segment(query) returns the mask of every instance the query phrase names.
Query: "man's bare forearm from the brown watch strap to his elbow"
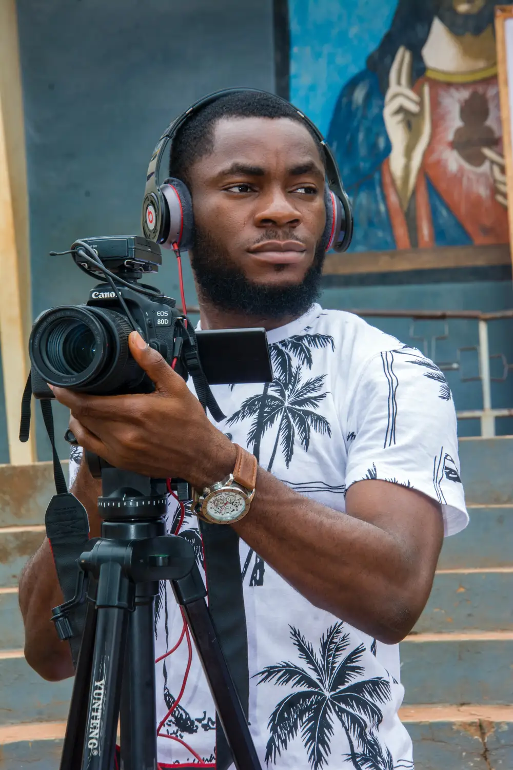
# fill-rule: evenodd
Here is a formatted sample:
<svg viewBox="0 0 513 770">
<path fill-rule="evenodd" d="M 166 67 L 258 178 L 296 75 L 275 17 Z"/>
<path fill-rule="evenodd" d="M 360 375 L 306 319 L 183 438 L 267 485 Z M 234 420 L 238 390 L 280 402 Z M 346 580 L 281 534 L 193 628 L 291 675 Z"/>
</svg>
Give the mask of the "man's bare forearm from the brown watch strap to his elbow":
<svg viewBox="0 0 513 770">
<path fill-rule="evenodd" d="M 233 526 L 312 604 L 386 643 L 405 636 L 428 598 L 431 560 L 412 563 L 385 527 L 325 507 L 260 468 L 251 511 Z"/>
</svg>

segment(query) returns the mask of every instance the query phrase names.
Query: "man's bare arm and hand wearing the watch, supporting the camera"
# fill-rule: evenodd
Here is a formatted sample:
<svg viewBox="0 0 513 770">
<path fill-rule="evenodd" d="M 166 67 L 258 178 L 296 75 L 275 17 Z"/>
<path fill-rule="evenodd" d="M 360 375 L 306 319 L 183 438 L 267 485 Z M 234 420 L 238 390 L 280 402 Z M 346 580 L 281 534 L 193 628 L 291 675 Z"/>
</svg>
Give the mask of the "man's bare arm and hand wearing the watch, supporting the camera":
<svg viewBox="0 0 513 770">
<path fill-rule="evenodd" d="M 185 478 L 196 489 L 224 478 L 235 466 L 234 445 L 160 353 L 138 347 L 134 335 L 132 355 L 155 383 L 153 393 L 86 396 L 55 388 L 72 410 L 78 443 L 115 467 Z M 259 468 L 252 508 L 235 528 L 312 604 L 396 642 L 411 630 L 431 590 L 441 507 L 421 492 L 379 480 L 351 484 L 346 507 L 347 514 L 333 511 Z"/>
</svg>

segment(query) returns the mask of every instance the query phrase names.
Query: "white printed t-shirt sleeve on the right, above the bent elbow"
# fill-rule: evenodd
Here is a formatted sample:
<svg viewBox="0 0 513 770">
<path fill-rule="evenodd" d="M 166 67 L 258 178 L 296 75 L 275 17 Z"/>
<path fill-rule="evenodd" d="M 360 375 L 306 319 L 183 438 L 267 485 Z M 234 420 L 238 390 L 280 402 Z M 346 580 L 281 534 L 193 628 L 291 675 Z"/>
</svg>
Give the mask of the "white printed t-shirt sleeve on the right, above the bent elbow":
<svg viewBox="0 0 513 770">
<path fill-rule="evenodd" d="M 381 479 L 441 504 L 445 535 L 468 524 L 455 407 L 444 374 L 415 348 L 365 364 L 348 406 L 346 487 Z"/>
</svg>

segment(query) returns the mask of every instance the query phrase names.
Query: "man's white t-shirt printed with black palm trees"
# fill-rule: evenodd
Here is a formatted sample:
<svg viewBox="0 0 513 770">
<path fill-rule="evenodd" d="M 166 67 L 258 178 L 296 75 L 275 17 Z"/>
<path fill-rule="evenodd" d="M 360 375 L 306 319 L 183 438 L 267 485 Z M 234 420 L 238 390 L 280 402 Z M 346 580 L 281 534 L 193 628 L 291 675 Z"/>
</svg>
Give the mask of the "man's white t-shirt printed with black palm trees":
<svg viewBox="0 0 513 770">
<path fill-rule="evenodd" d="M 227 416 L 220 430 L 284 484 L 341 515 L 351 484 L 381 479 L 438 500 L 446 535 L 466 526 L 455 407 L 435 364 L 358 316 L 318 305 L 269 332 L 268 342 L 273 383 L 212 388 Z M 78 456 L 74 450 L 72 477 Z M 169 531 L 177 521 L 172 500 Z M 204 574 L 194 516 L 181 532 Z M 314 607 L 242 541 L 241 564 L 249 722 L 262 767 L 412 768 L 411 739 L 398 718 L 398 645 Z M 182 628 L 163 584 L 157 657 L 175 647 Z M 178 697 L 187 665 L 187 638 L 156 665 L 158 722 Z M 194 645 L 182 698 L 161 733 L 169 736 L 158 738 L 162 767 L 215 768 L 215 708 Z"/>
</svg>

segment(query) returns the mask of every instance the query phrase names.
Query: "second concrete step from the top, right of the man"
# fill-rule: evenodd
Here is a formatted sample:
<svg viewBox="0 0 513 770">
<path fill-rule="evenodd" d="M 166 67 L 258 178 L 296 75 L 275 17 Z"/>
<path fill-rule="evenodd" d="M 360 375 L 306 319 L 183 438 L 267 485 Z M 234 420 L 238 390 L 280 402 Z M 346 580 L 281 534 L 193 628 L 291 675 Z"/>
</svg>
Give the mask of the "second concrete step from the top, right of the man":
<svg viewBox="0 0 513 770">
<path fill-rule="evenodd" d="M 471 506 L 468 514 L 468 527 L 445 538 L 438 569 L 513 567 L 513 505 Z"/>
</svg>

